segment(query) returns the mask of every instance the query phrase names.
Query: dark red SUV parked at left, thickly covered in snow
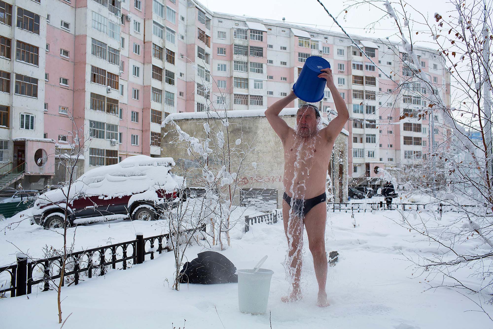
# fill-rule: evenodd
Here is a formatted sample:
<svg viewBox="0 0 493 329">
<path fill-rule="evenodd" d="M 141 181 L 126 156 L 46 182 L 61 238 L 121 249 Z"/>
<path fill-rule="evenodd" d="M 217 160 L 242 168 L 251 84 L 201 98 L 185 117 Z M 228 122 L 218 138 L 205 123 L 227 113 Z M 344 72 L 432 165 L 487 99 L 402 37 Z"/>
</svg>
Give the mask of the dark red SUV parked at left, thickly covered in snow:
<svg viewBox="0 0 493 329">
<path fill-rule="evenodd" d="M 177 205 L 178 193 L 184 187 L 183 177 L 170 172 L 174 165 L 170 157 L 135 155 L 89 170 L 70 186 L 41 194 L 34 204 L 31 224 L 63 227 L 67 194 L 70 225 L 157 219 L 163 210 Z"/>
</svg>

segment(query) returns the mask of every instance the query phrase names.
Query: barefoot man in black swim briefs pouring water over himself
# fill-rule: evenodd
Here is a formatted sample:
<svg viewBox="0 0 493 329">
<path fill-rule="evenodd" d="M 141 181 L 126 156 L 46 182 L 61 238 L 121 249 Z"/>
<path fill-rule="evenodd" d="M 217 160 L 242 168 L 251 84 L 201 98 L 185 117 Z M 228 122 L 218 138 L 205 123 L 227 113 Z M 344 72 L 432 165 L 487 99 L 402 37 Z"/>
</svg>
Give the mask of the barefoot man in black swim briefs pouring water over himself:
<svg viewBox="0 0 493 329">
<path fill-rule="evenodd" d="M 327 256 L 325 254 L 325 220 L 327 217 L 325 182 L 329 159 L 336 137 L 349 119 L 349 112 L 337 91 L 332 70 L 323 69 L 319 78 L 327 80 L 327 87 L 334 98 L 337 116 L 328 126 L 317 130 L 320 113 L 313 105 L 298 109 L 296 130 L 289 127 L 279 113 L 296 99 L 291 93 L 265 111 L 272 128 L 281 138 L 284 148 L 284 196 L 282 218 L 288 241 L 288 269 L 293 279 L 292 292 L 282 297 L 291 302 L 300 299 L 302 267 L 303 226 L 308 234 L 308 244 L 313 256 L 315 276 L 318 282 L 317 305 L 328 306 L 325 283 L 327 280 Z"/>
</svg>

